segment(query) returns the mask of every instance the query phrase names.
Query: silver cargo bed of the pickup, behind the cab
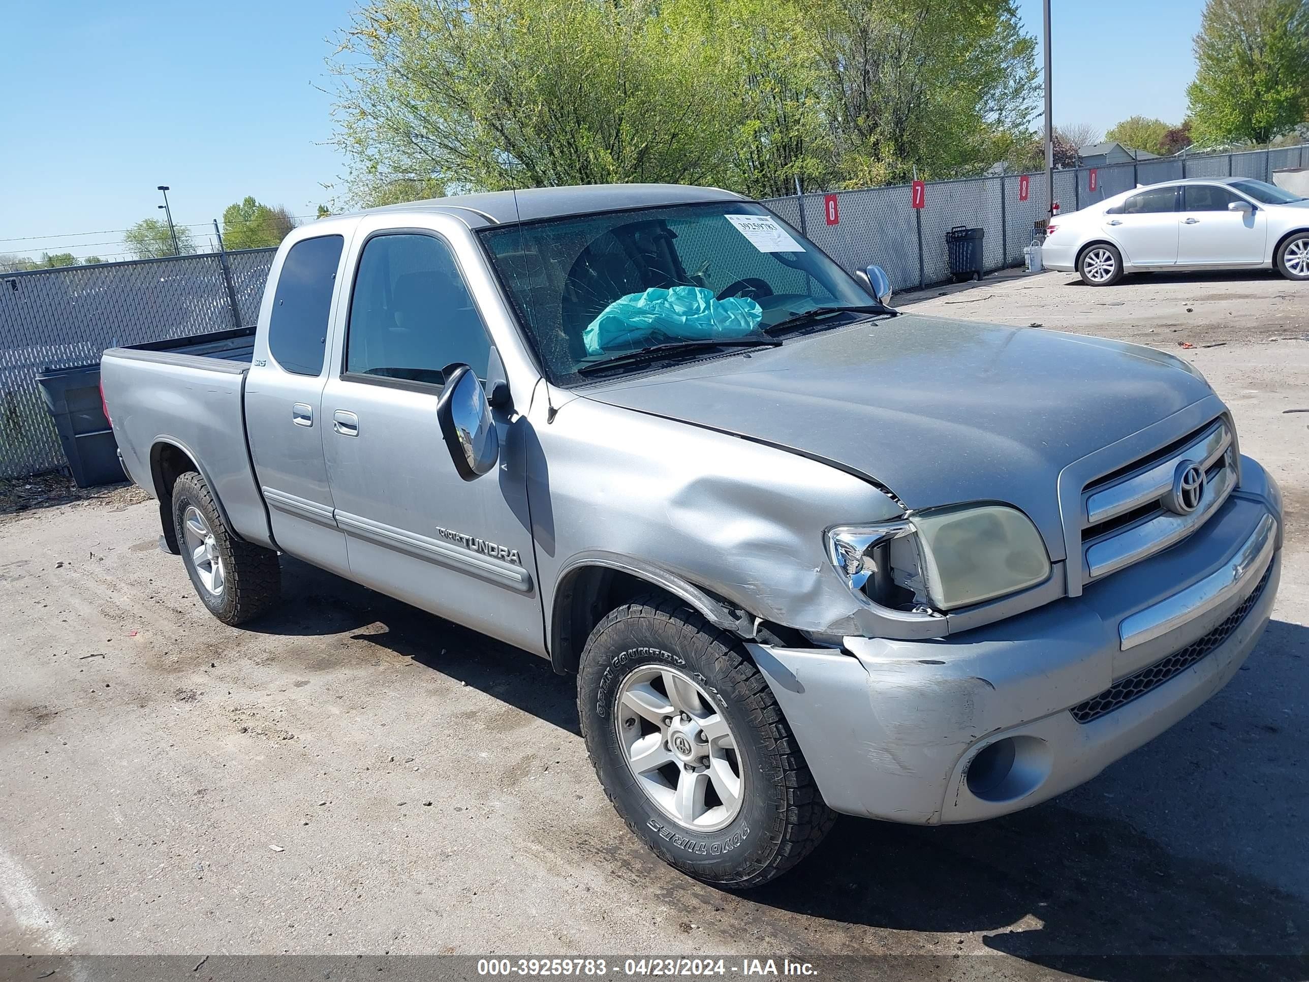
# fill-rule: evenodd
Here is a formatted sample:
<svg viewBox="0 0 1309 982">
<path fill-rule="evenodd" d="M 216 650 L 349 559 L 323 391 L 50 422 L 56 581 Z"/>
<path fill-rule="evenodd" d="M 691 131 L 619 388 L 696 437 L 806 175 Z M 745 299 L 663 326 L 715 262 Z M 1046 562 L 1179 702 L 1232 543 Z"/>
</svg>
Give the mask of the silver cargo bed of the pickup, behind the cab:
<svg viewBox="0 0 1309 982">
<path fill-rule="evenodd" d="M 254 327 L 217 331 L 110 348 L 101 356 L 99 378 L 132 481 L 157 495 L 160 461 L 181 450 L 213 488 L 228 528 L 267 546 L 268 513 L 246 443 L 253 356 Z"/>
</svg>

